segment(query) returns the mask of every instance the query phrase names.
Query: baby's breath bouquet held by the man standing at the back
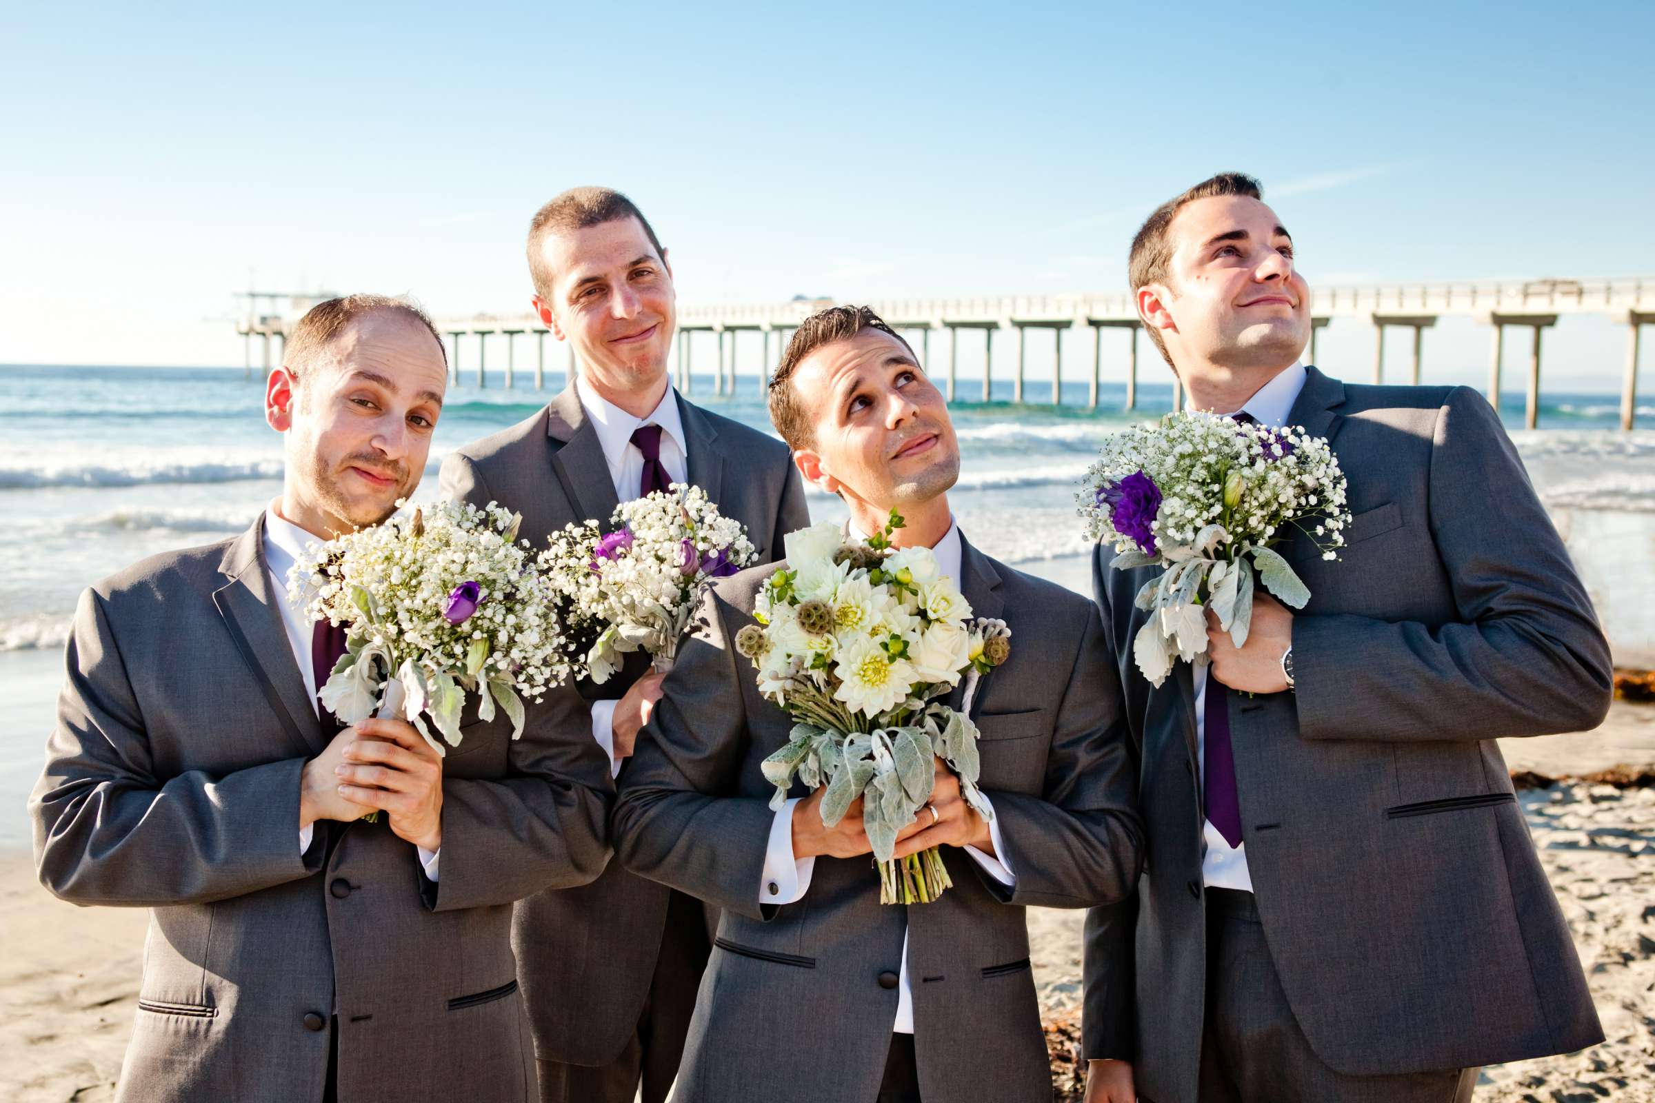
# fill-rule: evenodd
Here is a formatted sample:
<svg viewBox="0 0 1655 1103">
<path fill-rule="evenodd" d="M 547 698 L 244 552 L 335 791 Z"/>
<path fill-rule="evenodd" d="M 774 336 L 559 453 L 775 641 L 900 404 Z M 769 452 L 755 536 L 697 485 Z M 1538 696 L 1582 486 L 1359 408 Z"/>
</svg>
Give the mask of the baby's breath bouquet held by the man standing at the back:
<svg viewBox="0 0 1655 1103">
<path fill-rule="evenodd" d="M 609 528 L 569 524 L 544 552 L 569 661 L 596 683 L 639 648 L 655 670 L 670 670 L 702 584 L 758 557 L 741 523 L 687 483 L 621 503 Z"/>
</svg>

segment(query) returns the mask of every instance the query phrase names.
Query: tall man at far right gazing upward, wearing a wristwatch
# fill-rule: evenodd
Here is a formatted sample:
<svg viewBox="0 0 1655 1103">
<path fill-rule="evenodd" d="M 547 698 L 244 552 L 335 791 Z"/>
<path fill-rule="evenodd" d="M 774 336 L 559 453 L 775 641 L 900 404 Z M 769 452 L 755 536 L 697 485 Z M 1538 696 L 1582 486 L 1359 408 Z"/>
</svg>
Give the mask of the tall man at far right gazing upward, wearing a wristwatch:
<svg viewBox="0 0 1655 1103">
<path fill-rule="evenodd" d="M 1354 523 L 1337 562 L 1281 546 L 1302 610 L 1259 592 L 1246 647 L 1210 627 L 1160 690 L 1132 661 L 1158 569 L 1097 551 L 1149 863 L 1087 916 L 1087 1055 L 1154 1103 L 1446 1103 L 1600 1042 L 1494 739 L 1595 726 L 1609 648 L 1498 415 L 1302 365 L 1311 293 L 1250 177 L 1160 207 L 1130 273 L 1192 405 L 1331 440 Z"/>
</svg>

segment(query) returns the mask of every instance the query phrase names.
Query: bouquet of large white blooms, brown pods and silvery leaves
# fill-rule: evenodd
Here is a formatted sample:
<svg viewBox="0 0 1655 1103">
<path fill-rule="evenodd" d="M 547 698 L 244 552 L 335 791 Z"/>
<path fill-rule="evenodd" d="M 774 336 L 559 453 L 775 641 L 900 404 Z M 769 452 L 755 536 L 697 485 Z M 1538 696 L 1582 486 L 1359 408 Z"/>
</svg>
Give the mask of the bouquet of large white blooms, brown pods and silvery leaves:
<svg viewBox="0 0 1655 1103">
<path fill-rule="evenodd" d="M 736 652 L 758 668 L 760 693 L 798 721 L 763 762 L 781 809 L 798 777 L 828 787 L 823 824 L 832 827 L 862 797 L 862 824 L 879 867 L 879 901 L 930 903 L 953 885 L 935 847 L 892 860 L 897 832 L 930 800 L 933 756 L 960 777 L 985 819 L 976 789 L 976 726 L 968 719 L 981 675 L 1011 653 L 1003 620 L 971 607 L 928 547 L 890 547 L 902 518 L 866 542 L 844 542 L 836 524 L 786 537 L 788 566 L 765 582 L 756 625 Z M 960 709 L 933 698 L 967 680 Z"/>
</svg>

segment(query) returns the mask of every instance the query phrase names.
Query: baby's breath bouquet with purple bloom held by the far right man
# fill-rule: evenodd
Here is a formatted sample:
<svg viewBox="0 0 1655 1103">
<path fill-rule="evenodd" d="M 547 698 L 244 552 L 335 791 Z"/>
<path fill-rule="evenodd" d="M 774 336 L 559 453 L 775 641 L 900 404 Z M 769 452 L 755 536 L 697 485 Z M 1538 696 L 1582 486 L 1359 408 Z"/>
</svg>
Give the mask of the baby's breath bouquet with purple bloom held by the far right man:
<svg viewBox="0 0 1655 1103">
<path fill-rule="evenodd" d="M 1079 503 L 1087 539 L 1120 552 L 1115 569 L 1165 567 L 1137 594 L 1150 618 L 1132 642 L 1155 686 L 1173 661 L 1206 660 L 1206 609 L 1236 647 L 1246 643 L 1254 574 L 1302 609 L 1311 592 L 1273 546 L 1298 529 L 1322 559 L 1337 559 L 1350 524 L 1326 440 L 1190 410 L 1106 440 Z"/>
</svg>

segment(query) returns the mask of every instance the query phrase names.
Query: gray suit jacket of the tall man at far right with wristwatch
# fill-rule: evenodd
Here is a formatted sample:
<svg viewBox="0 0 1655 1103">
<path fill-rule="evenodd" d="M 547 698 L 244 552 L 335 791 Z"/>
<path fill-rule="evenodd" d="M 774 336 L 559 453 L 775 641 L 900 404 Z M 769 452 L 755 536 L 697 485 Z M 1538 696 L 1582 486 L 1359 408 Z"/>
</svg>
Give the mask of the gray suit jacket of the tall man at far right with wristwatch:
<svg viewBox="0 0 1655 1103">
<path fill-rule="evenodd" d="M 1283 554 L 1311 589 L 1298 693 L 1230 695 L 1248 870 L 1289 1005 L 1352 1075 L 1463 1068 L 1602 1040 L 1581 962 L 1494 739 L 1582 731 L 1609 648 L 1488 402 L 1359 387 L 1314 367 L 1291 423 L 1327 437 L 1354 524 L 1339 562 Z M 1132 661 L 1157 567 L 1094 561 L 1142 744 L 1149 862 L 1132 905 L 1087 916 L 1089 1057 L 1137 1053 L 1155 1103 L 1195 1100 L 1205 986 L 1192 671 Z M 1114 931 L 1137 910 L 1132 962 Z"/>
</svg>

